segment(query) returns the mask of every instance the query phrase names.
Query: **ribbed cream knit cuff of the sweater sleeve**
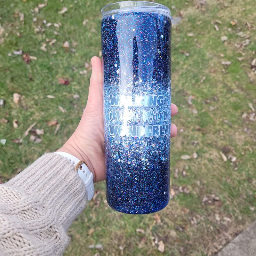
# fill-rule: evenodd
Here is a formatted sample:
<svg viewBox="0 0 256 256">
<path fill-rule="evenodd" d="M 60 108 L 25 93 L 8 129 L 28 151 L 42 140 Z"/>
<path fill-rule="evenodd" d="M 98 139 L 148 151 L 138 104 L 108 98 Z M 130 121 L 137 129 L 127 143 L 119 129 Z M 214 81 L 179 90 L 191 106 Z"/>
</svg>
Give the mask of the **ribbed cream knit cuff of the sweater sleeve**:
<svg viewBox="0 0 256 256">
<path fill-rule="evenodd" d="M 55 221 L 65 230 L 87 202 L 85 185 L 73 165 L 55 153 L 44 154 L 6 185 L 37 197 L 44 208 L 53 211 Z"/>
</svg>

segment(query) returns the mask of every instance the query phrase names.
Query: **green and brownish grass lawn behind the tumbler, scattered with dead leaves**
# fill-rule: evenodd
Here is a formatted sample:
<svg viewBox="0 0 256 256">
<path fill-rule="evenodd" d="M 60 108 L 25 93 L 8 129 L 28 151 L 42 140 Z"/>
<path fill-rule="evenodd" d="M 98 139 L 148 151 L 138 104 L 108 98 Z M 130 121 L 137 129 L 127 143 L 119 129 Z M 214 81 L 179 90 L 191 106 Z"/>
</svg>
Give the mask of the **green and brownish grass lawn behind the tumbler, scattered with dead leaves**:
<svg viewBox="0 0 256 256">
<path fill-rule="evenodd" d="M 90 68 L 86 68 L 86 74 L 79 71 L 92 56 L 99 55 L 100 9 L 110 2 L 48 1 L 38 14 L 31 9 L 41 1 L 1 2 L 0 98 L 5 106 L 0 109 L 0 139 L 6 139 L 5 145 L 0 144 L 2 181 L 44 152 L 58 149 L 74 131 L 86 104 L 90 77 Z M 159 222 L 155 214 L 132 216 L 110 209 L 105 183 L 96 184 L 99 194 L 72 224 L 72 239 L 65 255 L 210 256 L 256 217 L 256 127 L 249 119 L 253 111 L 248 105 L 256 108 L 256 77 L 250 66 L 256 57 L 254 1 L 159 3 L 171 8 L 173 16 L 183 16 L 172 31 L 172 100 L 179 107 L 177 117 L 172 119 L 179 129 L 171 147 L 174 198 L 158 213 Z M 68 10 L 59 14 L 63 7 Z M 20 21 L 20 13 L 24 21 Z M 33 17 L 37 21 L 33 22 Z M 85 19 L 88 21 L 84 26 Z M 234 19 L 237 24 L 231 25 Z M 61 25 L 47 27 L 43 20 Z M 38 26 L 44 31 L 35 32 Z M 222 36 L 227 36 L 227 41 L 223 42 Z M 49 45 L 47 39 L 56 42 Z M 239 47 L 246 39 L 249 44 Z M 62 47 L 65 41 L 70 43 L 69 50 Z M 40 49 L 42 43 L 46 43 L 47 51 Z M 22 56 L 13 54 L 21 49 L 37 60 L 26 64 Z M 232 63 L 225 68 L 223 61 Z M 70 84 L 60 85 L 59 78 L 69 79 Z M 13 102 L 14 93 L 22 95 L 18 106 Z M 77 103 L 74 94 L 80 95 L 82 104 Z M 58 106 L 67 112 L 62 113 Z M 247 114 L 244 118 L 243 113 Z M 14 119 L 18 120 L 16 129 Z M 51 120 L 60 124 L 56 135 L 56 126 L 47 125 Z M 24 136 L 34 122 L 35 128 L 44 129 L 39 144 L 30 141 L 30 135 Z M 17 138 L 23 139 L 21 144 L 13 142 Z M 220 151 L 236 160 L 224 162 Z M 181 159 L 194 152 L 197 158 Z M 184 188 L 188 193 L 183 192 Z M 203 198 L 212 194 L 219 200 L 203 203 Z M 145 232 L 136 232 L 138 228 Z M 165 243 L 164 253 L 158 251 L 158 241 Z M 103 245 L 102 251 L 88 248 L 98 243 Z"/>
</svg>

